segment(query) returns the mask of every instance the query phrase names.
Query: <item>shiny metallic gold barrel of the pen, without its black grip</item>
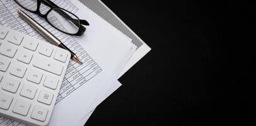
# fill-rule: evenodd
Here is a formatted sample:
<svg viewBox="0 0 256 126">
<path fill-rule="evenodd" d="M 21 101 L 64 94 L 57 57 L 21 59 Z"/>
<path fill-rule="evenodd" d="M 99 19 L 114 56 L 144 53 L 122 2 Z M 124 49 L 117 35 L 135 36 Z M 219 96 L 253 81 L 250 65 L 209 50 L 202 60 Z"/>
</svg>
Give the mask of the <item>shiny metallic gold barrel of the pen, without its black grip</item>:
<svg viewBox="0 0 256 126">
<path fill-rule="evenodd" d="M 28 16 L 26 13 L 24 13 L 21 10 L 18 10 L 18 14 L 25 20 L 27 23 L 29 23 L 35 30 L 37 30 L 41 35 L 43 35 L 47 40 L 50 41 L 50 43 L 59 46 L 61 44 L 61 40 L 56 38 L 50 31 L 46 30 L 42 25 L 37 23 L 37 21 L 33 20 Z"/>
</svg>

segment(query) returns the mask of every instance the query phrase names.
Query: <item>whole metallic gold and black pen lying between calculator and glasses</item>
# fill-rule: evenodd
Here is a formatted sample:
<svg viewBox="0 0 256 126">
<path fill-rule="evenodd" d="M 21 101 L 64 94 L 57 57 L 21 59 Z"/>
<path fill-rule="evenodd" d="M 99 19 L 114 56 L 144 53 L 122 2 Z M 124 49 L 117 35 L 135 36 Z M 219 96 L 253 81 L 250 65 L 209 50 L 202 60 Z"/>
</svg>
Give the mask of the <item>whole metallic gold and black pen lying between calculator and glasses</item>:
<svg viewBox="0 0 256 126">
<path fill-rule="evenodd" d="M 52 35 L 50 31 L 46 30 L 42 25 L 38 24 L 37 21 L 33 20 L 28 14 L 24 13 L 20 9 L 18 10 L 18 14 L 25 20 L 28 24 L 30 24 L 35 30 L 37 30 L 41 35 L 43 35 L 47 40 L 49 40 L 54 45 L 57 45 L 58 47 L 61 47 L 62 49 L 66 49 L 71 53 L 71 59 L 75 60 L 76 62 L 79 62 L 82 64 L 81 60 L 78 58 L 74 52 L 72 52 L 70 49 L 64 45 L 61 40 L 59 40 L 57 37 Z"/>
</svg>

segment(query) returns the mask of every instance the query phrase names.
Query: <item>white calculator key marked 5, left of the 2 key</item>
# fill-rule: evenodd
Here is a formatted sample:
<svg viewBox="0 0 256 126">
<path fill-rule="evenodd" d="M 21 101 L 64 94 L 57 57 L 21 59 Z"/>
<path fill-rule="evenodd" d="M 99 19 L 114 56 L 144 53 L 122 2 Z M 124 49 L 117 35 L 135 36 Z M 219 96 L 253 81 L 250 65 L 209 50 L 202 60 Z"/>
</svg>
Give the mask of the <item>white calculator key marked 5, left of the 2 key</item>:
<svg viewBox="0 0 256 126">
<path fill-rule="evenodd" d="M 9 91 L 11 93 L 16 93 L 20 86 L 20 81 L 10 77 L 4 77 L 2 89 Z"/>
</svg>

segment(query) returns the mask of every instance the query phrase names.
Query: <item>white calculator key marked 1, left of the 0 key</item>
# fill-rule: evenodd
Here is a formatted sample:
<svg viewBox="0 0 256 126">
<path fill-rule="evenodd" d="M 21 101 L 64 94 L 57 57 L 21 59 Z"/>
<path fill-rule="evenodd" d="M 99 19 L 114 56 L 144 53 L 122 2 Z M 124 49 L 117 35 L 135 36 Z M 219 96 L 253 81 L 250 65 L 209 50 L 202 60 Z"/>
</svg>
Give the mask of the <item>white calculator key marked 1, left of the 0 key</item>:
<svg viewBox="0 0 256 126">
<path fill-rule="evenodd" d="M 17 100 L 15 106 L 13 107 L 13 112 L 26 116 L 28 115 L 28 110 L 30 110 L 30 103 L 24 100 Z"/>
</svg>

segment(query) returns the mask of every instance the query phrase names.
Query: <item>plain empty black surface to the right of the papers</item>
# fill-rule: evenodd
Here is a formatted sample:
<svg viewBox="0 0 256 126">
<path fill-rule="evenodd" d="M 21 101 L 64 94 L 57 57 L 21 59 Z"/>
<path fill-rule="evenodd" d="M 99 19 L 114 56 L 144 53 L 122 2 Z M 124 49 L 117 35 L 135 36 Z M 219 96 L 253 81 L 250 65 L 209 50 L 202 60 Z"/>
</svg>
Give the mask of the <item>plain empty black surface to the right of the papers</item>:
<svg viewBox="0 0 256 126">
<path fill-rule="evenodd" d="M 255 125 L 255 1 L 102 1 L 152 50 L 86 125 Z"/>
</svg>

